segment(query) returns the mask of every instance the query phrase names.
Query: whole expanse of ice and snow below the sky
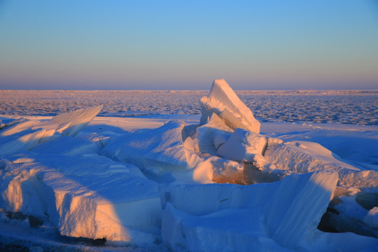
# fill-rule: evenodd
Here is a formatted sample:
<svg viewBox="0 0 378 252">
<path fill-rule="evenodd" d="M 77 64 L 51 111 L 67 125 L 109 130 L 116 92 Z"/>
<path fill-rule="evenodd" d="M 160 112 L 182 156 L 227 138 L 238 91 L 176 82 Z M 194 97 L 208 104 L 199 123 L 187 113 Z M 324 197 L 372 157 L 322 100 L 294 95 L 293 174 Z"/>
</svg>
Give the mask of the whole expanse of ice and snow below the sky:
<svg viewBox="0 0 378 252">
<path fill-rule="evenodd" d="M 377 91 L 0 101 L 3 250 L 378 251 Z"/>
</svg>

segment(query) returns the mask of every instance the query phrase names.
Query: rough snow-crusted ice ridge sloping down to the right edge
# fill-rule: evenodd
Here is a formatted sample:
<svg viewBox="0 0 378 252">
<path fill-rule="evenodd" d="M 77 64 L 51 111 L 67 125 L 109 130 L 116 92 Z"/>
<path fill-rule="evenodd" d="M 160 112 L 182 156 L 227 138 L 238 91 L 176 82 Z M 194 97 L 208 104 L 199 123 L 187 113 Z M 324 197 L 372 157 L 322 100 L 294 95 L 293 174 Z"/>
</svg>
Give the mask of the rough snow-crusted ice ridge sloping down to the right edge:
<svg viewBox="0 0 378 252">
<path fill-rule="evenodd" d="M 314 171 L 337 172 L 337 186 L 342 188 L 378 188 L 378 172 L 361 171 L 340 161 L 334 153 L 320 144 L 309 141 L 290 141 L 282 144 L 268 144 L 265 158 L 277 169 L 290 173 L 307 173 Z"/>
</svg>

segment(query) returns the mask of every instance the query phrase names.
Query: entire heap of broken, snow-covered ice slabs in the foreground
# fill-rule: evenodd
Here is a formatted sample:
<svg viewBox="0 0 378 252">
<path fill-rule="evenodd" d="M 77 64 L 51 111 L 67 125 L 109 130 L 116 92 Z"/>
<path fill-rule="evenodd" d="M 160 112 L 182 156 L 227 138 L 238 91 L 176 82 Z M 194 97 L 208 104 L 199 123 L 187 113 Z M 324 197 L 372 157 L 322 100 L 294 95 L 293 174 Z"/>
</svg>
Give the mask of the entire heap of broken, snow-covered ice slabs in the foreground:
<svg viewBox="0 0 378 252">
<path fill-rule="evenodd" d="M 101 107 L 14 121 L 0 131 L 0 208 L 62 235 L 177 251 L 378 246 L 378 172 L 316 143 L 260 134 L 225 80 L 200 105 L 198 125 L 112 137 L 78 134 Z"/>
</svg>

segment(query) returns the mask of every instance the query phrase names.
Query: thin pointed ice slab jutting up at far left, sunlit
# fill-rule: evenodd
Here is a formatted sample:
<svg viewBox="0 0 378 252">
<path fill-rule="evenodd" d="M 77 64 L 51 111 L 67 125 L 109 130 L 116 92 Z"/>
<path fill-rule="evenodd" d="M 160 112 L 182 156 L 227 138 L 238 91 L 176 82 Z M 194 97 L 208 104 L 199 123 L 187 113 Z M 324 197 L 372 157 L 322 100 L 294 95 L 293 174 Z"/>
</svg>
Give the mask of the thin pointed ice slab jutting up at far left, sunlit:
<svg viewBox="0 0 378 252">
<path fill-rule="evenodd" d="M 92 109 L 78 109 L 76 111 L 62 113 L 51 119 L 52 123 L 59 124 L 58 132 L 63 136 L 75 137 L 90 121 L 97 116 L 103 105 Z"/>
</svg>

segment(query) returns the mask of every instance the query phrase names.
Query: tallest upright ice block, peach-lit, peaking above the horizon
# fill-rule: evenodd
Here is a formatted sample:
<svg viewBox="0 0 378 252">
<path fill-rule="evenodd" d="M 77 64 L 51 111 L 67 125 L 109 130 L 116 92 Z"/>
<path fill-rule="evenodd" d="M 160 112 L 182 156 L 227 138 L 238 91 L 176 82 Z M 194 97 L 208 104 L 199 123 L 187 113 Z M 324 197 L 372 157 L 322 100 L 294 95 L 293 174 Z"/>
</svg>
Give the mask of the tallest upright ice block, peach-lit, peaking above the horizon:
<svg viewBox="0 0 378 252">
<path fill-rule="evenodd" d="M 260 133 L 260 123 L 251 109 L 241 102 L 225 80 L 214 80 L 207 97 L 200 100 L 202 108 L 201 124 L 207 123 L 212 113 L 216 113 L 225 124 L 235 130 L 237 127 Z"/>
</svg>

